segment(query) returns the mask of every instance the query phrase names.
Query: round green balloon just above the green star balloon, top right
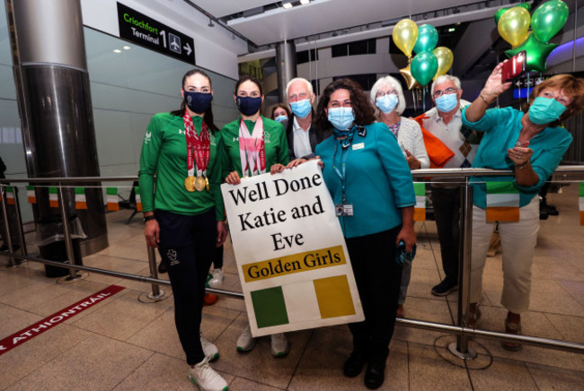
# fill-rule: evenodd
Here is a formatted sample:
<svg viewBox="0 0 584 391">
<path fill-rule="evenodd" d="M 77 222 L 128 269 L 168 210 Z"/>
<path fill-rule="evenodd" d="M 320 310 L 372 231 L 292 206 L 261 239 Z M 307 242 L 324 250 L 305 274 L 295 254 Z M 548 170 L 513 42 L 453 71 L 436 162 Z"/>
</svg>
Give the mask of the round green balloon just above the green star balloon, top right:
<svg viewBox="0 0 584 391">
<path fill-rule="evenodd" d="M 562 0 L 550 0 L 538 6 L 531 17 L 531 30 L 535 38 L 547 43 L 562 30 L 569 13 L 568 5 Z"/>
</svg>

